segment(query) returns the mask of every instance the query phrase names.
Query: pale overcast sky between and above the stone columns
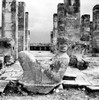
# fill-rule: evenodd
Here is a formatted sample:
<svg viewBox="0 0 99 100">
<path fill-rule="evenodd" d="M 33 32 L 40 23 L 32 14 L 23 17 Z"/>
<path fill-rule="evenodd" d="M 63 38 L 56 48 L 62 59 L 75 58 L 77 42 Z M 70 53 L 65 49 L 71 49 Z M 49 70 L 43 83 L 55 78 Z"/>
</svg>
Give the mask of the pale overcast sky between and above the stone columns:
<svg viewBox="0 0 99 100">
<path fill-rule="evenodd" d="M 0 0 L 0 4 L 2 4 L 1 1 L 2 0 Z M 57 4 L 63 3 L 63 0 L 21 1 L 26 2 L 26 11 L 29 12 L 29 29 L 31 31 L 31 42 L 50 42 L 50 31 L 53 28 L 53 13 L 57 12 Z M 92 8 L 96 4 L 99 4 L 99 0 L 81 0 L 81 15 L 90 14 L 92 19 Z"/>
</svg>

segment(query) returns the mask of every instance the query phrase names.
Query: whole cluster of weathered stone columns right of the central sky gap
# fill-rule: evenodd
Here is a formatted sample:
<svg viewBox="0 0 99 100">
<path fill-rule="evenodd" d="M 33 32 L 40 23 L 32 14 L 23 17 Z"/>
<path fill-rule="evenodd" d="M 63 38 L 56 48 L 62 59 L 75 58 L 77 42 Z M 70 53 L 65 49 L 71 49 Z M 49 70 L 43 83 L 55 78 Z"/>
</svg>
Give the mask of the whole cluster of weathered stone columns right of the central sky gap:
<svg viewBox="0 0 99 100">
<path fill-rule="evenodd" d="M 66 45 L 67 40 L 85 41 L 90 43 L 94 52 L 99 52 L 99 5 L 93 7 L 93 20 L 90 15 L 80 17 L 80 0 L 64 0 L 59 3 L 57 13 L 54 14 L 53 32 L 51 34 L 53 52 L 59 48 L 59 44 Z M 56 28 L 55 28 L 56 27 Z M 56 40 L 55 42 L 53 42 Z"/>
</svg>

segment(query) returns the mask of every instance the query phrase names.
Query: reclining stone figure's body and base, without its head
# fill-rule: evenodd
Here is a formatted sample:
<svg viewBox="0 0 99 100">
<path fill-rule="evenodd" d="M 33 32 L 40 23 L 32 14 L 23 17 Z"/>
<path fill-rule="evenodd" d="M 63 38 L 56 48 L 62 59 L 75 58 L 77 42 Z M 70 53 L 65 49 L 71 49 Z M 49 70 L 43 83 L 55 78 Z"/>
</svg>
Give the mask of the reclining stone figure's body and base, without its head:
<svg viewBox="0 0 99 100">
<path fill-rule="evenodd" d="M 23 76 L 19 83 L 28 90 L 35 93 L 49 93 L 55 86 L 62 81 L 64 73 L 69 63 L 69 56 L 65 51 L 58 52 L 52 58 L 52 64 L 48 68 L 42 69 L 41 64 L 35 57 L 27 52 L 19 53 L 19 62 L 23 68 Z"/>
</svg>

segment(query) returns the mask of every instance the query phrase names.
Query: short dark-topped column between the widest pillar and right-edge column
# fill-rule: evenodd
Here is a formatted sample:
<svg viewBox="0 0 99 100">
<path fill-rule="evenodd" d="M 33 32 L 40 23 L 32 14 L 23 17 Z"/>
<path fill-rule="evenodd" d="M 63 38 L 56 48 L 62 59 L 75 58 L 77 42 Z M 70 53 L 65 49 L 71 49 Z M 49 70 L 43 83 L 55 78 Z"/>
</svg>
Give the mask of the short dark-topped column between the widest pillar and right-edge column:
<svg viewBox="0 0 99 100">
<path fill-rule="evenodd" d="M 85 14 L 81 17 L 81 40 L 90 40 L 90 15 Z"/>
</svg>

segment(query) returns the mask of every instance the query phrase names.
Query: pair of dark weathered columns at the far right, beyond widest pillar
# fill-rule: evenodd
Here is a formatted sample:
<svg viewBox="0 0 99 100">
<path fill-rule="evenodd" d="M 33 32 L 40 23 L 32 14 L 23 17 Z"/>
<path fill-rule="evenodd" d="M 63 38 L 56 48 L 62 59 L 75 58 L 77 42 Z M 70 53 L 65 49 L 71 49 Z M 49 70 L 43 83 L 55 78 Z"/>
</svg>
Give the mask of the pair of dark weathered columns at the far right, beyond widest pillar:
<svg viewBox="0 0 99 100">
<path fill-rule="evenodd" d="M 99 5 L 93 7 L 93 19 L 85 14 L 81 17 L 81 40 L 90 43 L 92 53 L 99 53 Z"/>
</svg>

